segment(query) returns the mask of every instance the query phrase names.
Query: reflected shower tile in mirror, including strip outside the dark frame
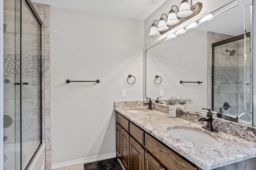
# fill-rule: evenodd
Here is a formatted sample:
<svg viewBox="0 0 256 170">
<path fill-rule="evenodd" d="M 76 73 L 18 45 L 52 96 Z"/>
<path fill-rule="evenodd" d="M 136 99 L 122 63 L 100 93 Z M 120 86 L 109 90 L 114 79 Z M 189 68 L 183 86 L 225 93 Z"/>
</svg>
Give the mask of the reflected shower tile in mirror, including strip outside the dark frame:
<svg viewBox="0 0 256 170">
<path fill-rule="evenodd" d="M 233 36 L 219 33 L 208 33 L 208 108 L 211 108 L 212 98 L 212 43 L 231 38 Z M 250 39 L 247 40 L 250 44 Z M 250 47 L 248 47 L 250 51 Z M 233 56 L 226 49 L 236 50 Z M 230 115 L 240 115 L 244 112 L 244 39 L 214 47 L 214 111 L 227 102 L 231 107 L 222 109 Z M 250 72 L 250 62 L 247 71 Z M 251 74 L 247 79 L 250 80 Z M 248 86 L 250 94 L 250 86 Z M 250 105 L 250 95 L 247 95 Z M 250 108 L 248 108 L 250 109 Z"/>
</svg>

